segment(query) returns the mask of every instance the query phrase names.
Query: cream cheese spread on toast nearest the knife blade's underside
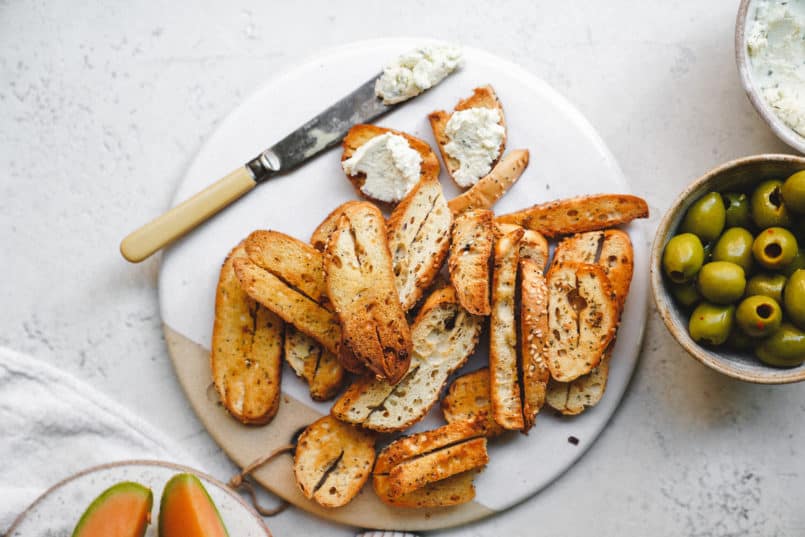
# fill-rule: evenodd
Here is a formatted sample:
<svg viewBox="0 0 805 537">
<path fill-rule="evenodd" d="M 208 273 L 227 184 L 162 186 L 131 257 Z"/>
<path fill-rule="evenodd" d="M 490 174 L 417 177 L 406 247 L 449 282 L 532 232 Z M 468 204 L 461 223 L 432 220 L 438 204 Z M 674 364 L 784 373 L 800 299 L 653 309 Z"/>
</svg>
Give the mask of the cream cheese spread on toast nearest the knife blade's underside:
<svg viewBox="0 0 805 537">
<path fill-rule="evenodd" d="M 387 132 L 356 149 L 341 167 L 348 175 L 366 175 L 361 192 L 393 203 L 403 199 L 419 181 L 422 156 L 404 137 Z"/>
</svg>

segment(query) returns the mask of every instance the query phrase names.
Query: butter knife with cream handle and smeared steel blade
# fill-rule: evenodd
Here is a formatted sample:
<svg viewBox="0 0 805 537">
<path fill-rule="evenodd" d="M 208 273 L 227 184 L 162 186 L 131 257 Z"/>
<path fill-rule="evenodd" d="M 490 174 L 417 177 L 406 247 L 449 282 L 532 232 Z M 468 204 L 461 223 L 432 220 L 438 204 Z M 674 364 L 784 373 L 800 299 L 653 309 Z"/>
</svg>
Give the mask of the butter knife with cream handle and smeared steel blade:
<svg viewBox="0 0 805 537">
<path fill-rule="evenodd" d="M 258 184 L 292 170 L 338 144 L 358 123 L 370 123 L 399 104 L 383 104 L 375 96 L 380 74 L 324 110 L 252 160 L 195 196 L 132 232 L 120 243 L 120 253 L 139 263 L 195 229 Z"/>
</svg>

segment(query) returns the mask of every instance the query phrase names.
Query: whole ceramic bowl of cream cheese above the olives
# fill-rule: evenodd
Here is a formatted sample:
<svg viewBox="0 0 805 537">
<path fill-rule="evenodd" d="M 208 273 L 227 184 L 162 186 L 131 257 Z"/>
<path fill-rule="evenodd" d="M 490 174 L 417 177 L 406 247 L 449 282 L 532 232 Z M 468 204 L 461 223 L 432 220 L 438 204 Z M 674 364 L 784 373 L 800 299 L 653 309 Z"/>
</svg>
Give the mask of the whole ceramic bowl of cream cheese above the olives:
<svg viewBox="0 0 805 537">
<path fill-rule="evenodd" d="M 805 153 L 805 0 L 742 0 L 735 58 L 755 109 Z"/>
</svg>

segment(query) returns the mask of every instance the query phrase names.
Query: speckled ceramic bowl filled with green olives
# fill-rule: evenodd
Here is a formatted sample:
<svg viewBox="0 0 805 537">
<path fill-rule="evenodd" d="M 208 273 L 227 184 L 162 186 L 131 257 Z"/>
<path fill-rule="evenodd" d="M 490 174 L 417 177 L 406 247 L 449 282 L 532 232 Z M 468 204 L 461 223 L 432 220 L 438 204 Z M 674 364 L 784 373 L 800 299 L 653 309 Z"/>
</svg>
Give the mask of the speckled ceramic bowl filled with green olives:
<svg viewBox="0 0 805 537">
<path fill-rule="evenodd" d="M 694 181 L 657 229 L 651 285 L 703 364 L 760 384 L 805 380 L 805 157 L 746 157 Z"/>
</svg>

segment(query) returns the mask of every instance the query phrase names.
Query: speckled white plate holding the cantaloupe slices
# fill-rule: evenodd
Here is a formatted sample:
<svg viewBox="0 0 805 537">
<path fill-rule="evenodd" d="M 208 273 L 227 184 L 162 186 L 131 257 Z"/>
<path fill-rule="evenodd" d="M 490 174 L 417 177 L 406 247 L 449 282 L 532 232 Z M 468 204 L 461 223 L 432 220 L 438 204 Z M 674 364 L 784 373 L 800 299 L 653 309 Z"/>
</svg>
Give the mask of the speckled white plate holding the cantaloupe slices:
<svg viewBox="0 0 805 537">
<path fill-rule="evenodd" d="M 20 515 L 6 535 L 8 537 L 70 535 L 84 510 L 101 492 L 115 483 L 134 481 L 150 488 L 154 493 L 152 523 L 145 535 L 155 537 L 162 489 L 171 477 L 185 472 L 195 474 L 204 483 L 204 488 L 218 507 L 218 512 L 230 535 L 271 537 L 271 532 L 263 524 L 263 519 L 223 483 L 185 466 L 157 461 L 106 464 L 68 477 L 40 496 Z"/>
</svg>

